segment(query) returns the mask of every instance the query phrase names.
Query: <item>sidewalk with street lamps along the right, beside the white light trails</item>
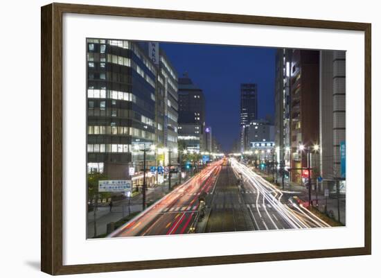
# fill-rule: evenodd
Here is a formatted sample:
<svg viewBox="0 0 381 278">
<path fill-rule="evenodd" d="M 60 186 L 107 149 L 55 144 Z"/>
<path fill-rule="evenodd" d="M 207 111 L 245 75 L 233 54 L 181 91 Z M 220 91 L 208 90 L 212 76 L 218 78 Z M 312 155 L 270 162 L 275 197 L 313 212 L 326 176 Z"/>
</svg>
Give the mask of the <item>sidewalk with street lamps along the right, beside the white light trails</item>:
<svg viewBox="0 0 381 278">
<path fill-rule="evenodd" d="M 256 172 L 258 173 L 258 172 Z M 272 174 L 267 175 L 267 173 L 258 173 L 262 177 L 272 177 Z M 274 177 L 276 175 L 274 174 Z M 278 188 L 282 190 L 282 177 L 278 176 Z M 284 193 L 283 196 L 283 202 L 287 202 L 288 198 L 290 196 L 297 196 L 300 198 L 303 202 L 308 202 L 308 188 L 305 186 L 302 186 L 301 184 L 297 184 L 295 182 L 290 182 L 288 179 L 284 180 L 284 191 L 289 191 L 290 193 Z M 317 197 L 317 198 L 316 198 Z M 311 200 L 314 207 L 317 207 L 319 211 L 324 213 L 324 206 L 327 206 L 327 211 L 333 212 L 333 218 L 335 220 L 341 222 L 343 225 L 346 224 L 346 200 L 344 198 L 339 198 L 339 204 L 337 204 L 337 198 L 325 198 L 324 197 L 324 191 L 318 191 L 318 194 L 316 196 L 316 191 L 314 191 L 314 186 L 312 185 L 312 191 L 311 191 Z M 318 206 L 316 205 L 318 204 Z M 340 220 L 338 218 L 338 210 L 337 207 L 339 207 L 340 212 Z"/>
</svg>

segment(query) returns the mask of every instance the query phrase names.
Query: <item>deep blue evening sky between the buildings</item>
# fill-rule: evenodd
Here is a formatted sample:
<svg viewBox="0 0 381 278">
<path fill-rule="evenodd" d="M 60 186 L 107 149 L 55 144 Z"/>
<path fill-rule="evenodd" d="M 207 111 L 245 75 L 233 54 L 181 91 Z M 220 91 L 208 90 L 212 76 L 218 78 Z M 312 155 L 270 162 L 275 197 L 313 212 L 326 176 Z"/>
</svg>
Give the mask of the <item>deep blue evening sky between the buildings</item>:
<svg viewBox="0 0 381 278">
<path fill-rule="evenodd" d="M 184 72 L 205 96 L 206 125 L 231 150 L 239 137 L 240 84 L 258 84 L 258 117 L 274 118 L 274 77 L 276 49 L 209 44 L 161 43 L 160 47 L 177 70 Z"/>
</svg>

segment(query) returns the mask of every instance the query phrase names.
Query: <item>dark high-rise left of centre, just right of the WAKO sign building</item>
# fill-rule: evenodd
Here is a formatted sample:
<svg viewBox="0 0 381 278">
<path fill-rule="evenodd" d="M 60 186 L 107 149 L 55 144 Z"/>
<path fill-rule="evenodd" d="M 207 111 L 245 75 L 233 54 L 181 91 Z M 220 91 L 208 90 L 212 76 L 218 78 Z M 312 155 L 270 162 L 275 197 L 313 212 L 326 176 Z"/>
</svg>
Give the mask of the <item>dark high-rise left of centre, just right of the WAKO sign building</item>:
<svg viewBox="0 0 381 278">
<path fill-rule="evenodd" d="M 185 73 L 179 78 L 179 144 L 187 150 L 205 150 L 204 128 L 204 93 Z"/>
</svg>

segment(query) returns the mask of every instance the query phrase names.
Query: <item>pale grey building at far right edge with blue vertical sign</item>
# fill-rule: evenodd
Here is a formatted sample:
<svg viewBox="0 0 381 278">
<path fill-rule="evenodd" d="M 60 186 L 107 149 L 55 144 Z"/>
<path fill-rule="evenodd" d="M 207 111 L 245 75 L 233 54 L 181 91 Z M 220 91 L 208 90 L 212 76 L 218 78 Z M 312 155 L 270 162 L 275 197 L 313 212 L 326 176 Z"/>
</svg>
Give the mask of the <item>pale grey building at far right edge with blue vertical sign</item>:
<svg viewBox="0 0 381 278">
<path fill-rule="evenodd" d="M 345 192 L 346 53 L 320 51 L 320 64 L 319 169 L 324 187 L 341 180 Z"/>
</svg>

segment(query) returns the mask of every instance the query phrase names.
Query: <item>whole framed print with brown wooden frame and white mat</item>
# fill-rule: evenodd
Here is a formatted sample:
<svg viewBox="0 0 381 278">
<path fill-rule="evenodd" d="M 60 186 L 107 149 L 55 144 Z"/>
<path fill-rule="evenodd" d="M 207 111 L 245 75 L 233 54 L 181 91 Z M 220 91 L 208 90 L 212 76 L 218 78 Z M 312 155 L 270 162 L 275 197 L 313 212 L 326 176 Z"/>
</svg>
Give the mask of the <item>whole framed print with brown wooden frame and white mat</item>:
<svg viewBox="0 0 381 278">
<path fill-rule="evenodd" d="M 371 24 L 52 3 L 41 54 L 42 271 L 371 254 Z"/>
</svg>

